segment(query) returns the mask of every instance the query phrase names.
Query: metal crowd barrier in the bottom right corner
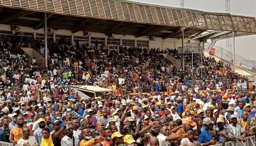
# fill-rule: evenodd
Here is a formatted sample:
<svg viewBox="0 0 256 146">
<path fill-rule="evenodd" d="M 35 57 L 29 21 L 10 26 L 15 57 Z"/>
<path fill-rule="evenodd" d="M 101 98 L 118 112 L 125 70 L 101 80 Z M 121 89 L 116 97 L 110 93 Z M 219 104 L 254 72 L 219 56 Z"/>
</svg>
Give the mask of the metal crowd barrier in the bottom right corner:
<svg viewBox="0 0 256 146">
<path fill-rule="evenodd" d="M 224 146 L 255 146 L 255 135 L 251 137 L 246 137 L 246 142 L 236 141 L 236 142 L 225 142 Z M 223 146 L 222 143 L 215 144 L 214 146 Z"/>
</svg>

